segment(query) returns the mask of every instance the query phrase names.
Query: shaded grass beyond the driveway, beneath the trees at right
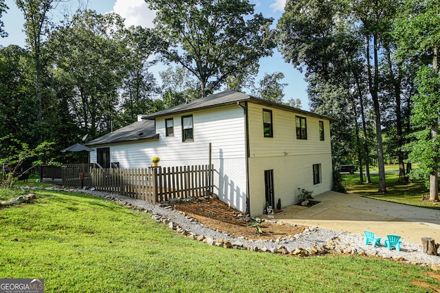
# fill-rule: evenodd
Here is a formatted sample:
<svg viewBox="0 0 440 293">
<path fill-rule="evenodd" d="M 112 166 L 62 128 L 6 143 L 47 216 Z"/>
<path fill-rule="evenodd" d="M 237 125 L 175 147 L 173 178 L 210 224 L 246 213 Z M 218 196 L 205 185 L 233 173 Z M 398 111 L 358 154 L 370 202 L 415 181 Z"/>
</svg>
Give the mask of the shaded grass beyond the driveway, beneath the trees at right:
<svg viewBox="0 0 440 293">
<path fill-rule="evenodd" d="M 377 200 L 386 200 L 389 202 L 397 202 L 401 204 L 409 204 L 416 207 L 425 207 L 429 209 L 440 209 L 440 204 L 437 202 L 430 202 L 423 200 L 423 197 L 429 198 L 428 189 L 422 181 L 415 181 L 413 183 L 399 183 L 399 174 L 388 173 L 385 174 L 386 194 L 379 194 L 377 190 L 378 175 L 371 174 L 371 183 L 360 183 L 359 175 L 343 174 L 342 180 L 347 192 L 352 194 L 361 194 L 369 198 Z M 364 176 L 365 180 L 365 176 Z"/>
</svg>

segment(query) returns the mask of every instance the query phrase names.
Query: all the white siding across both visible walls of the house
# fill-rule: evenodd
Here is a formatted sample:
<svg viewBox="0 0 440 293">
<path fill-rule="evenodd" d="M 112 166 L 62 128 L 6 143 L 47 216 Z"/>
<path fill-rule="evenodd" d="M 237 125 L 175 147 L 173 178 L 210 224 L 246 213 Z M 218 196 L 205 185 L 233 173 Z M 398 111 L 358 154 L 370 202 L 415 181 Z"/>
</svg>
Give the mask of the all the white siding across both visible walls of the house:
<svg viewBox="0 0 440 293">
<path fill-rule="evenodd" d="M 263 135 L 263 108 L 272 110 L 274 137 Z M 194 141 L 182 142 L 181 116 L 192 114 Z M 264 171 L 274 170 L 275 202 L 298 202 L 298 188 L 314 191 L 314 195 L 331 189 L 330 126 L 327 119 L 300 115 L 307 119 L 307 139 L 296 139 L 295 113 L 276 108 L 248 104 L 250 158 L 249 185 L 252 215 L 260 215 L 265 207 Z M 173 116 L 174 136 L 166 137 L 165 119 L 156 120 L 159 139 L 109 145 L 112 162 L 120 167 L 146 167 L 159 156 L 159 165 L 200 165 L 208 163 L 212 143 L 214 193 L 223 202 L 246 211 L 246 146 L 243 109 L 236 105 L 219 106 L 194 113 Z M 319 139 L 319 121 L 324 121 L 325 141 Z M 91 152 L 96 162 L 96 152 Z M 312 165 L 321 164 L 322 181 L 314 185 Z"/>
</svg>

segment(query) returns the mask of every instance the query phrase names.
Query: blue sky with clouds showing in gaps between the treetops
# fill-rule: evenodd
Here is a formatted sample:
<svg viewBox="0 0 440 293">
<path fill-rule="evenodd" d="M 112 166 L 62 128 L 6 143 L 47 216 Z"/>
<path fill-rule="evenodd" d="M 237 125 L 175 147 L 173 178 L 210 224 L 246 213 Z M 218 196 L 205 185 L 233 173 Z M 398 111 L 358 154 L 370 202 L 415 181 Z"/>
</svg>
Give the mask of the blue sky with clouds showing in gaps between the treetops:
<svg viewBox="0 0 440 293">
<path fill-rule="evenodd" d="M 71 1 L 72 5 L 76 1 Z M 265 17 L 272 17 L 275 19 L 274 23 L 283 14 L 285 0 L 250 0 L 255 4 L 256 12 L 261 12 Z M 3 15 L 2 20 L 5 23 L 5 31 L 8 32 L 7 38 L 0 38 L 0 45 L 8 46 L 11 44 L 25 47 L 25 34 L 23 34 L 23 14 L 15 5 L 14 0 L 6 0 L 6 4 L 10 8 L 6 14 Z M 116 12 L 124 19 L 127 26 L 142 25 L 144 27 L 151 27 L 153 25 L 154 12 L 148 10 L 144 0 L 89 0 L 87 8 L 96 10 L 98 13 L 104 14 L 106 12 Z M 285 75 L 284 83 L 288 85 L 285 87 L 285 100 L 291 97 L 294 99 L 301 99 L 304 110 L 309 110 L 307 99 L 307 83 L 304 81 L 304 75 L 298 70 L 294 69 L 292 65 L 284 62 L 283 57 L 278 51 L 274 51 L 274 55 L 269 58 L 262 58 L 260 60 L 259 75 L 256 82 L 263 78 L 265 73 L 282 72 Z M 155 74 L 159 81 L 159 71 L 164 68 L 156 66 L 151 71 Z"/>
</svg>

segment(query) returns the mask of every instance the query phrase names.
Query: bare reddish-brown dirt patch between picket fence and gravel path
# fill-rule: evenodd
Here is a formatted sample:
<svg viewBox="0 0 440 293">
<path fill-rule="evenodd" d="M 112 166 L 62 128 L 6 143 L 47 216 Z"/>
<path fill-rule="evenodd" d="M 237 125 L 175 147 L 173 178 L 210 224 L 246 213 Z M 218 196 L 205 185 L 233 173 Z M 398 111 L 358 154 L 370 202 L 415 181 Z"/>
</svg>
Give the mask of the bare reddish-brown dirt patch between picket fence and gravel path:
<svg viewBox="0 0 440 293">
<path fill-rule="evenodd" d="M 263 233 L 257 235 L 255 227 L 248 227 L 251 222 L 245 221 L 243 213 L 215 199 L 176 204 L 175 209 L 183 211 L 209 228 L 227 232 L 232 237 L 243 236 L 245 239 L 292 237 L 295 234 L 302 233 L 307 228 L 306 226 L 262 222 L 260 227 Z"/>
</svg>

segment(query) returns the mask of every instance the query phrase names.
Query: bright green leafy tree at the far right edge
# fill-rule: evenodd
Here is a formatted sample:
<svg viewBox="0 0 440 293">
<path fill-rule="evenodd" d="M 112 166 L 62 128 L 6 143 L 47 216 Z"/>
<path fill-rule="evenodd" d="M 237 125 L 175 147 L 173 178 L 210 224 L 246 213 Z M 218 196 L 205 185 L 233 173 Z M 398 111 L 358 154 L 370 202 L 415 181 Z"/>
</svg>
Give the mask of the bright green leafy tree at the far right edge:
<svg viewBox="0 0 440 293">
<path fill-rule="evenodd" d="M 438 170 L 440 145 L 440 1 L 408 0 L 396 24 L 401 56 L 425 57 L 425 66 L 417 74 L 418 94 L 413 98 L 412 123 L 418 126 L 417 141 L 411 156 L 420 165 L 413 176 L 429 177 L 430 200 L 439 200 Z"/>
</svg>

